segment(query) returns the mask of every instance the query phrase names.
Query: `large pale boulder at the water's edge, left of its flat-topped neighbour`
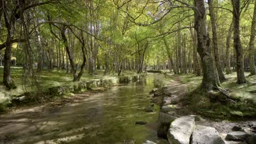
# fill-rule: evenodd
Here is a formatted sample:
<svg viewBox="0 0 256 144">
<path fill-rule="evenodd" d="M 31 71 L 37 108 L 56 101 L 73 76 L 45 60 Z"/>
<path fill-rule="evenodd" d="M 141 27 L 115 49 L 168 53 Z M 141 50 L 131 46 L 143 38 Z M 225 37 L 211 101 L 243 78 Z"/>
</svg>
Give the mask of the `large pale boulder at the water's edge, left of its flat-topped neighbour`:
<svg viewBox="0 0 256 144">
<path fill-rule="evenodd" d="M 170 143 L 189 144 L 189 139 L 194 131 L 195 118 L 184 116 L 175 119 L 167 133 L 167 138 Z"/>
</svg>

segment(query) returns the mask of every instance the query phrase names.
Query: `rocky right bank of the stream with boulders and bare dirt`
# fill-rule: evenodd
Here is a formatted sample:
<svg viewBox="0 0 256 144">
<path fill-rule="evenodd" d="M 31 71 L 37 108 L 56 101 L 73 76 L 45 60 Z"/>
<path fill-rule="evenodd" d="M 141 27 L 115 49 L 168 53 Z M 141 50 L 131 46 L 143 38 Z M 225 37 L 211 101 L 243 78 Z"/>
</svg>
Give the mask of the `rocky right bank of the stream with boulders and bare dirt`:
<svg viewBox="0 0 256 144">
<path fill-rule="evenodd" d="M 174 80 L 160 89 L 153 89 L 153 102 L 161 106 L 158 136 L 168 143 L 255 144 L 256 122 L 214 122 L 187 110 L 182 104 L 186 86 Z"/>
</svg>

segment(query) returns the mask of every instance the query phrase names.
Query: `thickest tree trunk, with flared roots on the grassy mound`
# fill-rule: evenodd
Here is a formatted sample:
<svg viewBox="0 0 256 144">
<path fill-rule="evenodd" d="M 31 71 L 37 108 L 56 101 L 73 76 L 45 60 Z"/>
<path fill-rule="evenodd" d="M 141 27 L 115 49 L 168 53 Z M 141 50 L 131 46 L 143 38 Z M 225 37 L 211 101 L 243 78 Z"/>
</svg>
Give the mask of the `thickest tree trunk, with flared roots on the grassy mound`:
<svg viewBox="0 0 256 144">
<path fill-rule="evenodd" d="M 195 29 L 197 32 L 197 51 L 202 61 L 202 90 L 219 89 L 220 82 L 210 47 L 210 37 L 206 27 L 206 9 L 204 0 L 194 0 Z"/>
</svg>

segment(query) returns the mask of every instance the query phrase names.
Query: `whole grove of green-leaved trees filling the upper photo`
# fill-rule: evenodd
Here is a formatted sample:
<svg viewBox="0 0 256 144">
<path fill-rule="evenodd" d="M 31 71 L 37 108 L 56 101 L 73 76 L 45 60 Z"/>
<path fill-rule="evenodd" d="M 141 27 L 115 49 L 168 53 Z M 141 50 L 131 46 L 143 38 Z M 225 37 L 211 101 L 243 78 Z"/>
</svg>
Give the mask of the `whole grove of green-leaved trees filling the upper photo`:
<svg viewBox="0 0 256 144">
<path fill-rule="evenodd" d="M 3 85 L 15 88 L 13 57 L 24 77 L 43 69 L 203 76 L 201 89 L 222 89 L 225 74 L 255 75 L 255 0 L 13 0 L 0 2 Z"/>
</svg>

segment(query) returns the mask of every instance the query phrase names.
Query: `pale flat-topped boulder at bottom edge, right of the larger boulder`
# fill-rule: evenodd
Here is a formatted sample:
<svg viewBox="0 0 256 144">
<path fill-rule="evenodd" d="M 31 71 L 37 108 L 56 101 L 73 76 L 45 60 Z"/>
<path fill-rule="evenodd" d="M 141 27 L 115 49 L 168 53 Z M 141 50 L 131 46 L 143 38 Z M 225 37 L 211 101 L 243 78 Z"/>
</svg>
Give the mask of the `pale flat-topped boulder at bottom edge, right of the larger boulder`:
<svg viewBox="0 0 256 144">
<path fill-rule="evenodd" d="M 218 131 L 212 127 L 196 125 L 192 134 L 191 144 L 225 144 Z"/>
</svg>

